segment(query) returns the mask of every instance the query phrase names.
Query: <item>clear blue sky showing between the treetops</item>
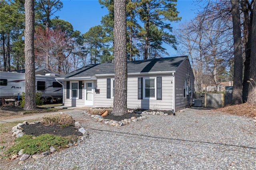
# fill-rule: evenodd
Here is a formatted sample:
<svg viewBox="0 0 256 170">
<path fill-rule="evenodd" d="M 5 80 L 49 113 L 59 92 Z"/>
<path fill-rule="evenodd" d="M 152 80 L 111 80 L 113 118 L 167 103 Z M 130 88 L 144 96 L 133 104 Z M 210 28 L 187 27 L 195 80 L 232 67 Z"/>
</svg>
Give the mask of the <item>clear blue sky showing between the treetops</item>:
<svg viewBox="0 0 256 170">
<path fill-rule="evenodd" d="M 59 19 L 68 21 L 82 34 L 86 33 L 91 27 L 100 25 L 102 16 L 108 14 L 108 10 L 101 8 L 98 0 L 62 0 L 63 8 L 54 15 Z M 198 8 L 192 0 L 178 0 L 177 10 L 182 20 L 178 23 L 173 22 L 172 27 L 178 28 L 178 25 L 184 21 L 189 21 L 196 15 Z M 170 46 L 164 46 L 170 56 L 176 56 L 176 51 Z"/>
</svg>

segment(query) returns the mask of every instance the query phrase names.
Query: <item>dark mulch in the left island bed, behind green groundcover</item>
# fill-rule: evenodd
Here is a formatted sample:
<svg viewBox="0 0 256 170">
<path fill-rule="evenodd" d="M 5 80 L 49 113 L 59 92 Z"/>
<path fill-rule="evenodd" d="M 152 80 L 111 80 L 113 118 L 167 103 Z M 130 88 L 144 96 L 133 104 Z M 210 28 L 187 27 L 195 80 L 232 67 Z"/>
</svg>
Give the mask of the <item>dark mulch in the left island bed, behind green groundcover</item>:
<svg viewBox="0 0 256 170">
<path fill-rule="evenodd" d="M 54 134 L 57 136 L 83 136 L 81 132 L 78 132 L 74 126 L 60 127 L 56 125 L 43 125 L 42 123 L 36 123 L 34 125 L 22 125 L 23 132 L 28 135 L 39 136 L 41 134 Z"/>
</svg>

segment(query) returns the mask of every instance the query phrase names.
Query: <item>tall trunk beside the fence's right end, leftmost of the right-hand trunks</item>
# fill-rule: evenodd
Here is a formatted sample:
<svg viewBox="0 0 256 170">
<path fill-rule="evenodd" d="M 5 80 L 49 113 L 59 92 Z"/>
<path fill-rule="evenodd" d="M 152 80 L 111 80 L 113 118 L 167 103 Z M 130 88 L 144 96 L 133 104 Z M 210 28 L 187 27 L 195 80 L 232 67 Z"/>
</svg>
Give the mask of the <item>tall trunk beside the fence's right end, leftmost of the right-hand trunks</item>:
<svg viewBox="0 0 256 170">
<path fill-rule="evenodd" d="M 233 104 L 242 103 L 242 74 L 243 74 L 243 58 L 242 58 L 242 38 L 240 26 L 239 1 L 230 0 L 232 5 L 233 20 L 233 36 L 234 36 L 234 83 L 233 83 Z"/>
</svg>

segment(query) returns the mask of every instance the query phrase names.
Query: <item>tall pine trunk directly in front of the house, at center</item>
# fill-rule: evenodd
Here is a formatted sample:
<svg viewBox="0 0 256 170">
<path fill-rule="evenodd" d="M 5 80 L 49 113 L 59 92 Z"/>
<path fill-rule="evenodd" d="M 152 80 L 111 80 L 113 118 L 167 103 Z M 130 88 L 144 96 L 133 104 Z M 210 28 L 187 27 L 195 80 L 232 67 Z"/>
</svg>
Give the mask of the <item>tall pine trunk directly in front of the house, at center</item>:
<svg viewBox="0 0 256 170">
<path fill-rule="evenodd" d="M 114 115 L 127 113 L 127 62 L 126 62 L 126 3 L 114 0 L 114 60 L 115 91 Z"/>
</svg>

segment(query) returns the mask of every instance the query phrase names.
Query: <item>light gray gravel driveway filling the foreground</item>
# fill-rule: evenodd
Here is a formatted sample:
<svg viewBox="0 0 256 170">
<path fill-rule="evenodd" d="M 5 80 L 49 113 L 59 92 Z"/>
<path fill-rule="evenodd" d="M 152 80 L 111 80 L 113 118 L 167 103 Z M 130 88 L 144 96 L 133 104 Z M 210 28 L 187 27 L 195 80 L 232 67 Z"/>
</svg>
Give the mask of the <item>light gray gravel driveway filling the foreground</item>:
<svg viewBox="0 0 256 170">
<path fill-rule="evenodd" d="M 22 169 L 144 170 L 256 168 L 256 126 L 253 119 L 211 110 L 184 109 L 176 116 L 146 115 L 122 127 L 95 122 L 84 113 L 70 113 L 89 132 L 78 146 Z"/>
</svg>

